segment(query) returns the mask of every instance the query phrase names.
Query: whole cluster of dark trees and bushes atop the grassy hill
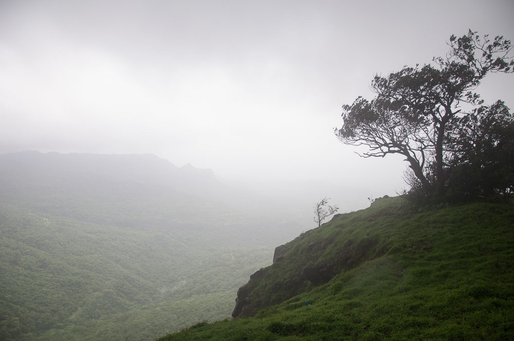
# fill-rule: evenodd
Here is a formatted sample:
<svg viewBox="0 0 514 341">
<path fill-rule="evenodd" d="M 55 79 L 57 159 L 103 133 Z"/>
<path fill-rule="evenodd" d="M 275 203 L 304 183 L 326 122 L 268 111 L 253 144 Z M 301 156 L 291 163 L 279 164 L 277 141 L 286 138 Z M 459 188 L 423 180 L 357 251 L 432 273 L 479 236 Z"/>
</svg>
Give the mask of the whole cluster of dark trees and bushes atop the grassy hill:
<svg viewBox="0 0 514 341">
<path fill-rule="evenodd" d="M 368 147 L 363 157 L 401 155 L 409 163 L 411 201 L 505 199 L 514 192 L 514 117 L 502 101 L 484 105 L 475 92 L 489 73 L 514 72 L 503 36 L 450 36 L 433 64 L 375 75 L 376 97 L 343 105 L 341 142 Z"/>
</svg>

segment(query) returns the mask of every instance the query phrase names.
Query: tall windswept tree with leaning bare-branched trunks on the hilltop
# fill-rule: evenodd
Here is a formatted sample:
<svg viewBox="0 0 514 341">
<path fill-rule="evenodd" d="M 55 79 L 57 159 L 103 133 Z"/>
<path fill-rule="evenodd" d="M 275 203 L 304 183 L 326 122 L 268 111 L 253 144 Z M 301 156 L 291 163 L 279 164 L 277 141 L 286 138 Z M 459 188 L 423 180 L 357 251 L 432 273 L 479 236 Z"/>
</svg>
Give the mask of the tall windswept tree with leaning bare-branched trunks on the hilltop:
<svg viewBox="0 0 514 341">
<path fill-rule="evenodd" d="M 450 50 L 433 65 L 403 67 L 376 75 L 371 101 L 358 97 L 343 105 L 343 125 L 335 129 L 348 145 L 366 146 L 362 157 L 405 157 L 426 195 L 444 195 L 456 157 L 455 133 L 483 104 L 475 89 L 490 72 L 511 73 L 512 45 L 469 32 L 450 37 Z"/>
</svg>

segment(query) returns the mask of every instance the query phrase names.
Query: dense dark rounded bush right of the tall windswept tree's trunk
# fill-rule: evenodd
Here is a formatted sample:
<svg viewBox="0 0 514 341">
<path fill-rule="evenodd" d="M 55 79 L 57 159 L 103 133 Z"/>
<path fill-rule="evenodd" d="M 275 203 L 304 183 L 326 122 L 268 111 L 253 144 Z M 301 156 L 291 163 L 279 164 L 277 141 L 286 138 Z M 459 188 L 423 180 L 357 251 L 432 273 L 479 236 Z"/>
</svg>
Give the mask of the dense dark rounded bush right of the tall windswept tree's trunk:
<svg viewBox="0 0 514 341">
<path fill-rule="evenodd" d="M 505 103 L 475 108 L 452 131 L 450 197 L 502 194 L 508 200 L 514 190 L 514 116 Z"/>
</svg>

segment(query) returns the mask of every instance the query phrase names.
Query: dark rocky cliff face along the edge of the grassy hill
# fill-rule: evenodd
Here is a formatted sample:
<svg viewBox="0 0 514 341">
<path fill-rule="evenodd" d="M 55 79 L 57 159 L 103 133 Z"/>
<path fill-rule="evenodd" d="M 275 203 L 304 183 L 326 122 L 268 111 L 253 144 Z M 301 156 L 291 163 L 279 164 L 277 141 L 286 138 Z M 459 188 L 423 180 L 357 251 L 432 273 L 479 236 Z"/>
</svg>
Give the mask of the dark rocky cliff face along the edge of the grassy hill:
<svg viewBox="0 0 514 341">
<path fill-rule="evenodd" d="M 339 219 L 340 215 L 324 225 L 338 224 Z M 232 317 L 253 316 L 260 309 L 323 285 L 342 270 L 387 252 L 387 247 L 368 235 L 336 243 L 323 235 L 326 227 L 322 225 L 277 247 L 273 264 L 252 274 L 237 291 Z"/>
</svg>

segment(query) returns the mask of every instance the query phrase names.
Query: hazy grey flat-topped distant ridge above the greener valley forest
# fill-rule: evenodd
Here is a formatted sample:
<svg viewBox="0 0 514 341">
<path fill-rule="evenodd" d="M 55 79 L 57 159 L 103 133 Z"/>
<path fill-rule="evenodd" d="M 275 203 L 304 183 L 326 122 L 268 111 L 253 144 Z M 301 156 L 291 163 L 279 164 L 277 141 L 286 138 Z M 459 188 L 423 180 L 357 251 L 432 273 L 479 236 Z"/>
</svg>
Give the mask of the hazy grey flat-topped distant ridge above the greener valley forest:
<svg viewBox="0 0 514 341">
<path fill-rule="evenodd" d="M 254 215 L 248 202 L 258 199 L 217 181 L 210 169 L 176 167 L 150 154 L 0 155 L 0 205 L 85 222 L 207 228 L 213 219 L 232 216 L 233 224 L 237 215 Z M 118 214 L 128 211 L 140 213 L 131 219 Z"/>
</svg>

